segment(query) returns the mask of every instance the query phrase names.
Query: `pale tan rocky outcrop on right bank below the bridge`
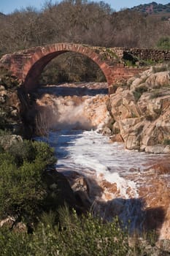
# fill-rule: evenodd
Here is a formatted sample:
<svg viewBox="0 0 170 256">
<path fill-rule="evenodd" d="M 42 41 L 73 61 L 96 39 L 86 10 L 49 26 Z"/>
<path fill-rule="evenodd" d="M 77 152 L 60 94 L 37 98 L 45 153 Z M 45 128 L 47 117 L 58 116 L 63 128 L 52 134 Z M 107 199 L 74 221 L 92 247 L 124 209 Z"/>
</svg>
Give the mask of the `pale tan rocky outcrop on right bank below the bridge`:
<svg viewBox="0 0 170 256">
<path fill-rule="evenodd" d="M 110 96 L 112 140 L 122 138 L 128 149 L 170 153 L 170 72 L 156 71 L 131 78 Z"/>
</svg>

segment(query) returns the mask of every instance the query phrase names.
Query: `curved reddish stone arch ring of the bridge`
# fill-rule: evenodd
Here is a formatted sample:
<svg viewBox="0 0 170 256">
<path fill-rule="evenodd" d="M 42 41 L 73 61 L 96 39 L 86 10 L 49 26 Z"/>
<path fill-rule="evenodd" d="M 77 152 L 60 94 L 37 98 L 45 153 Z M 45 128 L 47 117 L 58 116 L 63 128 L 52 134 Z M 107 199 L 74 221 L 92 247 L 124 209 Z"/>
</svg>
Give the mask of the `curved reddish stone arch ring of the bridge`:
<svg viewBox="0 0 170 256">
<path fill-rule="evenodd" d="M 30 58 L 23 64 L 23 87 L 26 89 L 26 92 L 29 92 L 36 87 L 37 78 L 39 78 L 42 70 L 50 61 L 69 51 L 88 56 L 88 58 L 98 64 L 98 67 L 100 67 L 101 71 L 104 73 L 109 85 L 109 78 L 111 75 L 110 67 L 105 61 L 101 60 L 99 54 L 95 52 L 95 49 L 86 45 L 58 43 L 34 48 L 34 50 L 32 49 Z"/>
</svg>

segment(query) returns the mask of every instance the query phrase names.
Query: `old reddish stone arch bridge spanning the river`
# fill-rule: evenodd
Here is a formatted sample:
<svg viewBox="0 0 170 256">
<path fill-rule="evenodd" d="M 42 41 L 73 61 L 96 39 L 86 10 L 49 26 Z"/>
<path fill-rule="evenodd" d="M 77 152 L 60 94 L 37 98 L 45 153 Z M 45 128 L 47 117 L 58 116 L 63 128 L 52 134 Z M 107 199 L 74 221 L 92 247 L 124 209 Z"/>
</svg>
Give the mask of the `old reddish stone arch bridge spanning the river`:
<svg viewBox="0 0 170 256">
<path fill-rule="evenodd" d="M 88 56 L 98 64 L 106 77 L 110 93 L 114 91 L 115 83 L 141 72 L 141 69 L 136 67 L 125 67 L 123 59 L 131 59 L 134 54 L 132 50 L 72 43 L 56 43 L 6 54 L 0 59 L 0 64 L 9 69 L 12 75 L 15 75 L 23 84 L 26 93 L 29 93 L 38 85 L 39 75 L 41 75 L 45 66 L 52 59 L 69 51 Z M 148 54 L 147 52 L 147 56 Z M 141 50 L 136 52 L 136 55 L 140 58 L 144 57 Z"/>
</svg>

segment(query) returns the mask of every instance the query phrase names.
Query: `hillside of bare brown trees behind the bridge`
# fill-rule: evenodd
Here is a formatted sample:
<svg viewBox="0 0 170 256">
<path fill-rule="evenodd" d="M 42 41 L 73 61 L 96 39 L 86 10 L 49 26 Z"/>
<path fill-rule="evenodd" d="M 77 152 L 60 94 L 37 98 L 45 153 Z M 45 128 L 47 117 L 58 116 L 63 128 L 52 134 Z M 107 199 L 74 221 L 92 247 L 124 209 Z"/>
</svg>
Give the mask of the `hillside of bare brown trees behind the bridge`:
<svg viewBox="0 0 170 256">
<path fill-rule="evenodd" d="M 147 15 L 150 6 L 152 15 Z M 109 48 L 157 48 L 165 37 L 169 42 L 170 3 L 152 2 L 135 8 L 137 11 L 113 12 L 102 1 L 60 1 L 46 4 L 39 12 L 26 9 L 2 15 L 0 53 L 57 42 Z M 169 49 L 169 43 L 164 48 Z"/>
</svg>

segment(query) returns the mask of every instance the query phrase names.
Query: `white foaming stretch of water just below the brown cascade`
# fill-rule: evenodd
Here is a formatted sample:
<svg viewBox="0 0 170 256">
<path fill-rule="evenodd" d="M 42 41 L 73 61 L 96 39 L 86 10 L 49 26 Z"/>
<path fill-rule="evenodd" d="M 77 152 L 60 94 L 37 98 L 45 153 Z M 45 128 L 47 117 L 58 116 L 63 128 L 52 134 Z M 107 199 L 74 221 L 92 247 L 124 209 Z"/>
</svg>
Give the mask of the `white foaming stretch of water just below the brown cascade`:
<svg viewBox="0 0 170 256">
<path fill-rule="evenodd" d="M 123 198 L 138 197 L 135 178 L 126 178 L 131 168 L 133 174 L 140 176 L 155 157 L 158 159 L 152 154 L 125 150 L 123 143 L 109 143 L 109 138 L 93 130 L 50 132 L 48 143 L 55 148 L 57 170 L 73 170 L 84 176 L 96 175 L 96 178 L 102 175 L 103 179 L 117 185 Z"/>
</svg>

